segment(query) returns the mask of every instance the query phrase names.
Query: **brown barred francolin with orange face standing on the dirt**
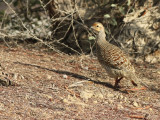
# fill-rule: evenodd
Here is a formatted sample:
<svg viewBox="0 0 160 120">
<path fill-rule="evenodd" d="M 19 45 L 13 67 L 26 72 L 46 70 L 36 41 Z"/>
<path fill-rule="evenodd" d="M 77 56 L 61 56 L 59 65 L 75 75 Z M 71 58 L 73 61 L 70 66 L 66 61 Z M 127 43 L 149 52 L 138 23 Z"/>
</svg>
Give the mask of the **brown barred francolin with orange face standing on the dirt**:
<svg viewBox="0 0 160 120">
<path fill-rule="evenodd" d="M 96 49 L 99 63 L 106 69 L 108 75 L 115 78 L 115 87 L 122 78 L 131 81 L 134 86 L 139 84 L 135 69 L 123 51 L 106 41 L 103 25 L 95 22 L 91 29 L 96 33 Z"/>
</svg>

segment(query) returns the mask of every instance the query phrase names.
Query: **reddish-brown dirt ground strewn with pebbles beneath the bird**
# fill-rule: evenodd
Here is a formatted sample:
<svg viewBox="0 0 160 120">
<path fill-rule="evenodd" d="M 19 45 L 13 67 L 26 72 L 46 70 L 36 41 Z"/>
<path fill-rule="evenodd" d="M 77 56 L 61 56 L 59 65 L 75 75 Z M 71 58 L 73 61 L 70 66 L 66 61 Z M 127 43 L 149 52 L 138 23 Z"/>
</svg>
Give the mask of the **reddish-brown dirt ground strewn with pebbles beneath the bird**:
<svg viewBox="0 0 160 120">
<path fill-rule="evenodd" d="M 134 63 L 147 90 L 127 93 L 95 57 L 1 45 L 0 58 L 1 77 L 15 83 L 0 86 L 1 120 L 160 120 L 158 63 Z"/>
</svg>

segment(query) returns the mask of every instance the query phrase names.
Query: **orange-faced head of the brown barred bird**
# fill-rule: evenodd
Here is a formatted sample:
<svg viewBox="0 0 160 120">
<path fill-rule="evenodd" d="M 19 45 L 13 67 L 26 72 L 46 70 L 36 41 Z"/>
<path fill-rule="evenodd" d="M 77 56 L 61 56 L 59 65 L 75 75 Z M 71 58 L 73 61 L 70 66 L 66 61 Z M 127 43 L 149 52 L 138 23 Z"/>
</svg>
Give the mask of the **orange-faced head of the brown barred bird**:
<svg viewBox="0 0 160 120">
<path fill-rule="evenodd" d="M 104 32 L 104 27 L 100 22 L 95 22 L 92 26 L 91 29 L 98 34 L 99 32 Z"/>
</svg>

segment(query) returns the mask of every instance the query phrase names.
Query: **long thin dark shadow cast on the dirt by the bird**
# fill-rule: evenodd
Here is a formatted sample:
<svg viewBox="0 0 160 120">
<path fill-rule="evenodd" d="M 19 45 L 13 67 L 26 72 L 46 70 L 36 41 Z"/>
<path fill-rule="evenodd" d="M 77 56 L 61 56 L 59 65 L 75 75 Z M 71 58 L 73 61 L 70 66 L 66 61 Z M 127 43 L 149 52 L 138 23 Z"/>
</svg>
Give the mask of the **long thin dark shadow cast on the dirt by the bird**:
<svg viewBox="0 0 160 120">
<path fill-rule="evenodd" d="M 71 77 L 74 77 L 74 78 L 78 78 L 78 79 L 81 79 L 81 80 L 86 80 L 86 81 L 91 81 L 95 84 L 100 84 L 100 85 L 103 85 L 105 87 L 108 87 L 108 88 L 111 88 L 115 91 L 120 91 L 122 93 L 127 93 L 126 91 L 122 91 L 120 89 L 115 89 L 115 87 L 108 83 L 108 82 L 101 82 L 101 81 L 95 81 L 95 80 L 92 80 L 91 78 L 89 77 L 86 77 L 86 76 L 83 76 L 83 75 L 79 75 L 77 73 L 73 73 L 73 72 L 69 72 L 69 71 L 65 71 L 65 70 L 55 70 L 55 69 L 49 69 L 49 68 L 45 68 L 45 67 L 42 67 L 42 66 L 39 66 L 39 65 L 34 65 L 34 64 L 28 64 L 28 63 L 22 63 L 22 62 L 14 62 L 15 64 L 21 64 L 21 65 L 25 65 L 25 66 L 31 66 L 31 67 L 37 67 L 39 69 L 43 69 L 43 70 L 48 70 L 48 71 L 52 71 L 52 72 L 55 72 L 55 73 L 58 73 L 58 74 L 65 74 L 65 75 L 68 75 L 68 76 L 71 76 Z"/>
</svg>

